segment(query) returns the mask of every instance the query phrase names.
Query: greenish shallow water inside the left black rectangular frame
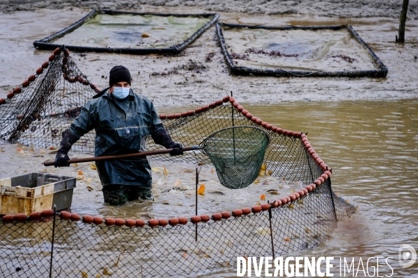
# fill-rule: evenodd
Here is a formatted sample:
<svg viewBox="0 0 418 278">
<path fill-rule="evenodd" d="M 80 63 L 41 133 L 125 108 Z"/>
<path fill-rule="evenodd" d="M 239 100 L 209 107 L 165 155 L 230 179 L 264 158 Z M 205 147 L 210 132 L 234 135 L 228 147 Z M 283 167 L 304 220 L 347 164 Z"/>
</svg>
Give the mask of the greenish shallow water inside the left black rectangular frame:
<svg viewBox="0 0 418 278">
<path fill-rule="evenodd" d="M 54 44 L 80 47 L 158 48 L 179 44 L 210 21 L 206 17 L 96 15 Z"/>
</svg>

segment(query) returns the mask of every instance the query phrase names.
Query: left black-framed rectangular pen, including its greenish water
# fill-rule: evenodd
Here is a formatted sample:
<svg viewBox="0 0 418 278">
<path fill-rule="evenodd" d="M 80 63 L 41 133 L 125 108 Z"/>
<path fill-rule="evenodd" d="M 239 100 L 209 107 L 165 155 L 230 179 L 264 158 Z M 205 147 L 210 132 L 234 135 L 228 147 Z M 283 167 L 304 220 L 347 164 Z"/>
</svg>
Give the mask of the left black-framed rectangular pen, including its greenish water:
<svg viewBox="0 0 418 278">
<path fill-rule="evenodd" d="M 219 14 L 134 13 L 92 10 L 71 26 L 36 40 L 38 49 L 67 49 L 118 54 L 178 54 L 210 26 Z"/>
</svg>

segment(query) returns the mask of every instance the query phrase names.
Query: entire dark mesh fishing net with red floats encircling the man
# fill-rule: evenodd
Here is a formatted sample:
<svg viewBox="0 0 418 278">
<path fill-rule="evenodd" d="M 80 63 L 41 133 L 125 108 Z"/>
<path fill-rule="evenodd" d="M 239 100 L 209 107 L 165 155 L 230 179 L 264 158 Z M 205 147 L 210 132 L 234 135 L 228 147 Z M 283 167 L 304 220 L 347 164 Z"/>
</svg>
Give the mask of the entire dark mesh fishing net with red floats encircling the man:
<svg viewBox="0 0 418 278">
<path fill-rule="evenodd" d="M 97 90 L 65 49 L 56 53 L 46 69 L 0 106 L 3 140 L 41 147 L 57 145 L 61 131 Z M 0 219 L 1 276 L 195 277 L 235 271 L 238 256 L 284 256 L 313 248 L 330 237 L 337 220 L 355 213 L 353 205 L 332 192 L 327 166 L 306 136 L 262 122 L 232 97 L 160 118 L 171 138 L 185 146 L 204 145 L 206 138 L 231 126 L 263 129 L 270 138 L 263 160 L 265 171 L 300 181 L 303 193 L 268 206 L 237 209 L 232 215 L 214 208 L 211 216 L 169 221 L 93 221 L 91 216 L 68 217 L 70 213 L 64 212 L 23 220 L 6 215 Z M 94 133 L 80 141 L 74 152 L 93 152 Z M 152 140 L 147 145 L 148 149 L 161 148 Z M 152 159 L 211 166 L 210 158 L 201 150 Z"/>
</svg>

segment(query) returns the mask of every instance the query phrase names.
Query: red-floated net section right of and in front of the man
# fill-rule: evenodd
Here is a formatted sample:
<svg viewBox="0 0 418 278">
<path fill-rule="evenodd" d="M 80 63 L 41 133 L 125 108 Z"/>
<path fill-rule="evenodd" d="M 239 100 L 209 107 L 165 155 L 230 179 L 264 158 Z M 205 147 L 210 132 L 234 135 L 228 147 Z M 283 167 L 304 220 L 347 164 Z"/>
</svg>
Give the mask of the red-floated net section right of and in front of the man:
<svg viewBox="0 0 418 278">
<path fill-rule="evenodd" d="M 306 134 L 272 126 L 233 97 L 185 113 L 160 115 L 173 140 L 196 145 L 227 126 L 258 126 L 270 136 L 268 174 L 302 188 L 251 208 L 171 219 L 121 219 L 67 211 L 3 215 L 0 272 L 5 277 L 195 277 L 235 271 L 237 256 L 286 256 L 330 238 L 355 207 L 331 188 L 332 170 Z M 157 146 L 148 142 L 150 149 Z M 202 152 L 158 156 L 210 165 Z"/>
</svg>

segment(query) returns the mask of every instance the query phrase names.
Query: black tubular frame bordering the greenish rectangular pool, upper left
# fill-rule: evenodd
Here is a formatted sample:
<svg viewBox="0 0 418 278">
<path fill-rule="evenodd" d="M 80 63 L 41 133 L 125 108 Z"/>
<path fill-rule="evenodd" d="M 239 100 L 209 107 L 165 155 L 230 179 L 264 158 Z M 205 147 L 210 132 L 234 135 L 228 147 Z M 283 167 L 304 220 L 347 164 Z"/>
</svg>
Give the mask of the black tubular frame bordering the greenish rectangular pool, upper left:
<svg viewBox="0 0 418 278">
<path fill-rule="evenodd" d="M 183 49 L 187 47 L 187 45 L 191 44 L 199 37 L 203 32 L 208 30 L 210 26 L 217 22 L 219 18 L 219 14 L 217 13 L 201 13 L 201 14 L 172 14 L 172 13 L 137 13 L 137 12 L 126 12 L 121 10 L 107 10 L 107 9 L 93 9 L 88 15 L 79 19 L 79 21 L 71 24 L 67 28 L 50 35 L 47 38 L 43 38 L 42 40 L 36 40 L 33 42 L 33 46 L 37 49 L 46 49 L 46 50 L 54 50 L 56 47 L 61 47 L 62 44 L 54 44 L 54 40 L 57 40 L 64 35 L 71 33 L 75 29 L 82 26 L 84 23 L 88 22 L 88 20 L 92 19 L 96 15 L 155 15 L 160 17 L 208 17 L 210 21 L 206 23 L 204 26 L 199 28 L 193 35 L 191 35 L 187 40 L 184 42 L 180 42 L 175 44 L 171 47 L 161 47 L 161 48 L 112 48 L 112 47 L 82 47 L 82 46 L 75 46 L 75 45 L 65 45 L 65 47 L 71 51 L 77 52 L 106 52 L 106 53 L 116 53 L 116 54 L 136 54 L 136 55 L 146 55 L 146 54 L 178 54 Z"/>
</svg>

